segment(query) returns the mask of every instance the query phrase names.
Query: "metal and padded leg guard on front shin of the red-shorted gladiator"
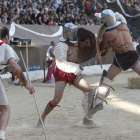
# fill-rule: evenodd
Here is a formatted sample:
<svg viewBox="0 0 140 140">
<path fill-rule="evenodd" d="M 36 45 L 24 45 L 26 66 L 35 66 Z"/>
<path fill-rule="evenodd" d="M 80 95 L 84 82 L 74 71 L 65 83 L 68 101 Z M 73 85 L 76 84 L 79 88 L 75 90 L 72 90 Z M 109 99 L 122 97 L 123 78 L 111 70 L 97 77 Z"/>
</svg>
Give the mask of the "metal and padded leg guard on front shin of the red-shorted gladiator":
<svg viewBox="0 0 140 140">
<path fill-rule="evenodd" d="M 88 120 L 92 120 L 93 115 L 103 109 L 103 104 L 100 103 L 96 106 L 96 89 L 93 89 L 89 92 L 83 92 L 84 98 L 82 100 L 82 107 L 85 112 L 85 117 Z"/>
</svg>

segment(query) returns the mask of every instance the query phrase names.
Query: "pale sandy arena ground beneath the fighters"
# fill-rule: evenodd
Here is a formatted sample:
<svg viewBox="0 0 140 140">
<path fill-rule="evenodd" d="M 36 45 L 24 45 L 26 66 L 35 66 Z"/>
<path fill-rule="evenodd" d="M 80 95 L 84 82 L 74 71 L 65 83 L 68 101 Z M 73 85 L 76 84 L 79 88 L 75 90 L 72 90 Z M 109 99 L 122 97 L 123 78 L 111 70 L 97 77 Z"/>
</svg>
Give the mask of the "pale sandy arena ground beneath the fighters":
<svg viewBox="0 0 140 140">
<path fill-rule="evenodd" d="M 129 76 L 134 72 L 121 73 L 112 86 L 115 91 L 108 97 L 109 105 L 94 115 L 98 128 L 83 127 L 84 111 L 81 107 L 83 93 L 73 86 L 66 87 L 60 102 L 45 121 L 49 140 L 140 140 L 140 90 L 129 89 Z M 85 79 L 97 86 L 100 75 Z M 41 113 L 53 98 L 55 83 L 33 82 Z M 37 128 L 38 113 L 33 96 L 24 88 L 14 86 L 7 90 L 11 115 L 6 131 L 6 140 L 45 140 L 42 128 Z"/>
</svg>

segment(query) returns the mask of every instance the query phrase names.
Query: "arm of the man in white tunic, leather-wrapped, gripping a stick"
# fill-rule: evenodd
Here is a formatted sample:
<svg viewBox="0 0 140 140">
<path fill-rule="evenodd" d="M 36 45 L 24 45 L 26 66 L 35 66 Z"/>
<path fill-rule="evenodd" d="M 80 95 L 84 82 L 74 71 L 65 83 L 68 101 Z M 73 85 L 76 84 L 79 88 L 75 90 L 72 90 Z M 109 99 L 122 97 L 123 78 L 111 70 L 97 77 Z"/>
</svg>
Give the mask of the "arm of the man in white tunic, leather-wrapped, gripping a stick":
<svg viewBox="0 0 140 140">
<path fill-rule="evenodd" d="M 27 83 L 27 80 L 20 68 L 20 66 L 16 63 L 16 61 L 14 60 L 14 58 L 10 58 L 8 60 L 8 63 L 10 64 L 13 72 L 15 73 L 15 75 L 20 79 L 20 81 L 23 83 L 23 85 L 25 86 L 26 89 L 28 89 L 30 91 L 31 94 L 33 94 L 35 92 L 35 89 L 32 85 L 29 85 Z"/>
</svg>

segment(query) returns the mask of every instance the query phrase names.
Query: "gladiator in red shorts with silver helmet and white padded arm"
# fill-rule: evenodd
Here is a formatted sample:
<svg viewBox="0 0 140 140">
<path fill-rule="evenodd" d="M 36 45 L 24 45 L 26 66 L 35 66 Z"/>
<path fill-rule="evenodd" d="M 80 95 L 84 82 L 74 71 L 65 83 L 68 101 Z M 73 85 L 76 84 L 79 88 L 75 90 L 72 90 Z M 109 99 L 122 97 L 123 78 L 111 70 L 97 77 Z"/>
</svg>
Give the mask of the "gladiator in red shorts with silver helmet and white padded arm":
<svg viewBox="0 0 140 140">
<path fill-rule="evenodd" d="M 61 101 L 64 89 L 66 87 L 66 84 L 68 83 L 69 85 L 73 85 L 74 87 L 80 89 L 84 93 L 84 98 L 82 100 L 82 107 L 85 112 L 85 116 L 83 117 L 83 124 L 85 126 L 95 126 L 91 117 L 94 114 L 95 110 L 90 113 L 90 116 L 88 113 L 88 100 L 92 100 L 92 95 L 95 94 L 95 90 L 90 87 L 88 82 L 81 75 L 83 67 L 81 67 L 80 64 L 84 62 L 84 59 L 80 57 L 82 55 L 80 55 L 79 53 L 78 44 L 81 46 L 81 48 L 91 46 L 91 42 L 89 40 L 78 42 L 77 26 L 72 23 L 65 24 L 63 27 L 63 37 L 60 39 L 60 42 L 56 45 L 54 50 L 55 92 L 53 99 L 46 105 L 46 108 L 42 114 L 42 120 L 44 123 L 46 116 L 56 106 L 59 106 L 58 103 Z M 84 50 L 86 50 L 86 48 L 84 48 Z M 89 55 L 90 54 L 88 54 L 87 56 Z M 90 101 L 89 104 L 91 103 L 92 102 Z M 40 120 L 38 121 L 37 126 L 41 126 Z"/>
</svg>

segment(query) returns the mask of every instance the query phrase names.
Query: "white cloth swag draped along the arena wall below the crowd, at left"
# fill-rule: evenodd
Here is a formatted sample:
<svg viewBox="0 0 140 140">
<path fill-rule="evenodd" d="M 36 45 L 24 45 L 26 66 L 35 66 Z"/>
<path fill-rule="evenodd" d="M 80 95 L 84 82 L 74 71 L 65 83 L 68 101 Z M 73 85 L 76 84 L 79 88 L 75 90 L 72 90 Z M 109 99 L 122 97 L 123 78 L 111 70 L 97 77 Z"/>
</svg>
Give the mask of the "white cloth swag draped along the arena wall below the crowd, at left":
<svg viewBox="0 0 140 140">
<path fill-rule="evenodd" d="M 13 22 L 13 23 L 11 24 L 10 31 L 9 31 L 10 36 L 13 36 L 13 35 L 15 34 L 15 31 L 16 31 L 15 27 L 17 27 L 17 28 L 19 28 L 19 29 L 26 30 L 26 31 L 31 32 L 31 33 L 33 33 L 33 34 L 35 34 L 35 35 L 44 36 L 44 37 L 57 37 L 57 36 L 61 35 L 62 32 L 63 32 L 63 27 L 60 26 L 60 27 L 59 27 L 59 30 L 58 30 L 56 33 L 54 33 L 54 34 L 52 34 L 52 35 L 46 35 L 46 34 L 37 33 L 37 32 L 35 32 L 35 31 L 32 31 L 32 30 L 30 30 L 30 29 L 28 29 L 28 28 L 25 28 L 25 27 L 23 27 L 23 26 L 21 26 L 21 25 L 19 25 L 19 24 L 15 24 L 15 23 Z"/>
</svg>

